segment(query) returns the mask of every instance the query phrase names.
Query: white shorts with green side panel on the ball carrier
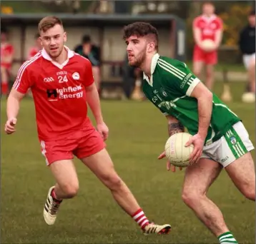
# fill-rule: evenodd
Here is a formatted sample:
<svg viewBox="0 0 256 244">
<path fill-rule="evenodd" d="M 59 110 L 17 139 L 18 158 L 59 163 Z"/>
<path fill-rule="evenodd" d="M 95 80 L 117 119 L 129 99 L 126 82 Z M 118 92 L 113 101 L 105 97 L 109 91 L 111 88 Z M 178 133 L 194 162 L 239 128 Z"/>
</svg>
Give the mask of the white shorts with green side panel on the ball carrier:
<svg viewBox="0 0 256 244">
<path fill-rule="evenodd" d="M 201 158 L 212 159 L 225 168 L 253 149 L 249 134 L 240 121 L 235 123 L 218 141 L 204 146 Z"/>
</svg>

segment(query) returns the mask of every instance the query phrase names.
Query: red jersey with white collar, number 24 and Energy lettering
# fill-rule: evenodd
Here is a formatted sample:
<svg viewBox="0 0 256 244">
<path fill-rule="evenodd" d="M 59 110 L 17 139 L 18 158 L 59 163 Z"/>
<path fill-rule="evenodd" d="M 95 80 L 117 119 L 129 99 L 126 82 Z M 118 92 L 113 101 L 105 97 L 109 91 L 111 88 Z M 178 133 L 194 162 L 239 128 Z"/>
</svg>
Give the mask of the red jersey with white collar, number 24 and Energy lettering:
<svg viewBox="0 0 256 244">
<path fill-rule="evenodd" d="M 40 141 L 66 138 L 92 125 L 87 117 L 85 91 L 94 83 L 92 64 L 74 51 L 67 51 L 68 59 L 62 64 L 52 61 L 44 49 L 39 51 L 19 68 L 14 83 L 20 93 L 31 88 Z"/>
</svg>

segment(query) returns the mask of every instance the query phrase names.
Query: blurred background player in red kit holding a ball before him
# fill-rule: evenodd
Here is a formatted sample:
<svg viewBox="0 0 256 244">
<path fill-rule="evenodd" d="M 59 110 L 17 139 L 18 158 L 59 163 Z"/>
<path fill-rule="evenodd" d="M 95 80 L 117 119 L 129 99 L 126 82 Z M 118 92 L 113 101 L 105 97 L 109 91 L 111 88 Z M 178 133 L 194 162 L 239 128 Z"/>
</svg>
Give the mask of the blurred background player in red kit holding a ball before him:
<svg viewBox="0 0 256 244">
<path fill-rule="evenodd" d="M 212 89 L 214 83 L 214 66 L 217 63 L 217 49 L 222 41 L 222 20 L 215 15 L 215 6 L 206 2 L 202 5 L 202 15 L 193 21 L 193 35 L 195 48 L 193 54 L 193 71 L 200 76 L 202 68 L 206 66 L 205 85 Z M 211 51 L 205 50 L 202 41 L 210 39 L 215 42 Z"/>
</svg>

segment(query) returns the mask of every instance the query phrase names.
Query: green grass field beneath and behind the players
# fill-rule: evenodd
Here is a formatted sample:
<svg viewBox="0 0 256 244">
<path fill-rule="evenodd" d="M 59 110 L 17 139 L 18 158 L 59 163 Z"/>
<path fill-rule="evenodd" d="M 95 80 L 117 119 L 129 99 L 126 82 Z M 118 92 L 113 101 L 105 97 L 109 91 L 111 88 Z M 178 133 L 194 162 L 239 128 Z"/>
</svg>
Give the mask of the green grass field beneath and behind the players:
<svg viewBox="0 0 256 244">
<path fill-rule="evenodd" d="M 215 91 L 220 94 L 222 85 Z M 244 84 L 234 83 L 230 108 L 245 123 L 255 143 L 255 106 L 243 104 Z M 144 236 L 109 191 L 79 161 L 77 198 L 67 200 L 54 226 L 44 223 L 43 207 L 54 184 L 41 156 L 34 105 L 24 99 L 17 131 L 3 133 L 6 101 L 1 103 L 1 243 L 217 243 L 181 200 L 184 172 L 170 173 L 157 161 L 167 139 L 166 120 L 145 101 L 102 101 L 110 134 L 108 151 L 117 171 L 141 203 L 148 218 L 171 223 L 166 236 Z M 253 154 L 254 155 L 254 154 Z M 242 166 L 241 166 L 242 167 Z M 209 192 L 220 206 L 239 243 L 255 243 L 255 204 L 246 200 L 222 172 Z"/>
</svg>

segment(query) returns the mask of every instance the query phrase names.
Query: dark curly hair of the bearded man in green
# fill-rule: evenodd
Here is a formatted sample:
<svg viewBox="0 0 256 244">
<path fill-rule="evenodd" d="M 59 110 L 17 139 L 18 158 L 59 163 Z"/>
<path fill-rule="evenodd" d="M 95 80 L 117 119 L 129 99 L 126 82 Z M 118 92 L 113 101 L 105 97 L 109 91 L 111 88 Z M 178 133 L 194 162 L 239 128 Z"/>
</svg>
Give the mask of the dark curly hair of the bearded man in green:
<svg viewBox="0 0 256 244">
<path fill-rule="evenodd" d="M 154 38 L 154 44 L 158 50 L 158 31 L 154 26 L 147 22 L 134 22 L 127 26 L 124 26 L 123 39 L 127 39 L 130 36 L 152 36 Z"/>
</svg>

